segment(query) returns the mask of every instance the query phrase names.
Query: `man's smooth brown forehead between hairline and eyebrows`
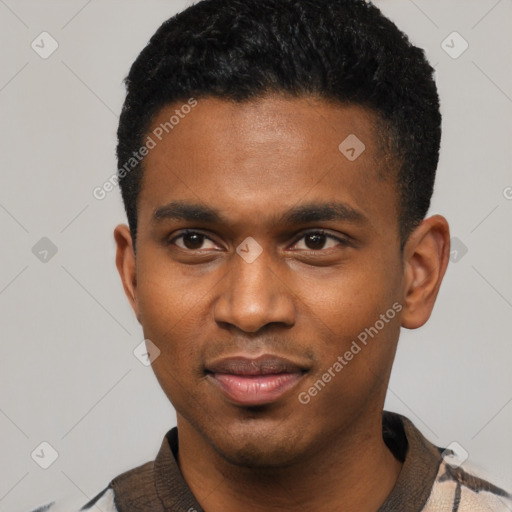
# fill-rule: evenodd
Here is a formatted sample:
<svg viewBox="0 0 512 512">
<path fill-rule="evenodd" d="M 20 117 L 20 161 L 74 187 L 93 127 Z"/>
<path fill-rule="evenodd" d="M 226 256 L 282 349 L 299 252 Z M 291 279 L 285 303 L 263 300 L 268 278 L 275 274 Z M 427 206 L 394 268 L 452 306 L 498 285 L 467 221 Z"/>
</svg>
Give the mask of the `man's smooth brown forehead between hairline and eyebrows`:
<svg viewBox="0 0 512 512">
<path fill-rule="evenodd" d="M 144 159 L 140 221 L 175 200 L 261 222 L 301 201 L 343 201 L 368 217 L 395 213 L 377 118 L 367 109 L 272 96 L 185 105 L 161 109 L 148 131 L 154 147 Z"/>
</svg>

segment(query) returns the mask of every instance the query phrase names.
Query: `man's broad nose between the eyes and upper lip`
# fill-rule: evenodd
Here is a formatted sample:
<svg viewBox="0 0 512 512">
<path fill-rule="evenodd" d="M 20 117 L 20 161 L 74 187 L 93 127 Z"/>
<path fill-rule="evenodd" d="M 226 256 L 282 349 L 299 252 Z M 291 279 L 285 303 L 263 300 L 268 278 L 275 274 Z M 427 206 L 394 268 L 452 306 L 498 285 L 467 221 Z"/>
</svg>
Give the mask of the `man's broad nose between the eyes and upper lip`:
<svg viewBox="0 0 512 512">
<path fill-rule="evenodd" d="M 272 270 L 265 251 L 251 263 L 234 254 L 229 265 L 214 304 L 217 323 L 250 333 L 271 323 L 287 327 L 295 323 L 293 294 Z"/>
</svg>

